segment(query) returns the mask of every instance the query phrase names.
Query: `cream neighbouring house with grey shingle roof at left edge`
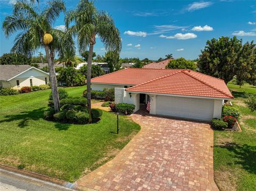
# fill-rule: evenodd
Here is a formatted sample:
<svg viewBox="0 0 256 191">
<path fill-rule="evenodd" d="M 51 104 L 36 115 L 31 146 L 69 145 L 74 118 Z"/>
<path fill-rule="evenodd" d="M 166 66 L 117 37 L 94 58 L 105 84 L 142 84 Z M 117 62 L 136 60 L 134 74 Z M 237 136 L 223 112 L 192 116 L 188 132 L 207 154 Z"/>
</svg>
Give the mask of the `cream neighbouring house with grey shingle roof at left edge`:
<svg viewBox="0 0 256 191">
<path fill-rule="evenodd" d="M 20 89 L 49 82 L 49 73 L 30 65 L 0 65 L 0 88 Z"/>
</svg>

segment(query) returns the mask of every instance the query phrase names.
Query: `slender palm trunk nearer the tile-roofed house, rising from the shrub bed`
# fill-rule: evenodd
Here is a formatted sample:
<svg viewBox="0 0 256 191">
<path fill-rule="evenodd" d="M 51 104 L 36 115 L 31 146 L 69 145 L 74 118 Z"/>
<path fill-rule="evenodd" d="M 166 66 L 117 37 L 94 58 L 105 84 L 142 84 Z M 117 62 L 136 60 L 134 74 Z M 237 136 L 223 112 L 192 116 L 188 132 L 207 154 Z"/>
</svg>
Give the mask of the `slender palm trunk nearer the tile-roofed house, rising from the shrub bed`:
<svg viewBox="0 0 256 191">
<path fill-rule="evenodd" d="M 90 44 L 89 55 L 87 61 L 87 109 L 89 112 L 89 122 L 92 122 L 91 113 L 91 74 L 92 74 L 92 54 L 93 54 L 93 44 Z"/>
</svg>

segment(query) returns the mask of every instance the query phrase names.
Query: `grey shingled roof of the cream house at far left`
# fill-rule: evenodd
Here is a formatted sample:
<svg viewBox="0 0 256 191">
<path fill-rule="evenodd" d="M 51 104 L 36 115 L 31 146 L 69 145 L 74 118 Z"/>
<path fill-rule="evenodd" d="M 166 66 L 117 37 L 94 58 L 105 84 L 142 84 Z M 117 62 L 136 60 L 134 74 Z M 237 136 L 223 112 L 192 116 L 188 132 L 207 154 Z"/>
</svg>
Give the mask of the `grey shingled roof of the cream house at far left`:
<svg viewBox="0 0 256 191">
<path fill-rule="evenodd" d="M 33 68 L 39 70 L 35 67 L 31 67 L 30 65 L 0 65 L 0 80 L 9 81 Z M 49 73 L 47 72 L 44 72 L 42 70 L 39 71 L 49 75 Z"/>
</svg>

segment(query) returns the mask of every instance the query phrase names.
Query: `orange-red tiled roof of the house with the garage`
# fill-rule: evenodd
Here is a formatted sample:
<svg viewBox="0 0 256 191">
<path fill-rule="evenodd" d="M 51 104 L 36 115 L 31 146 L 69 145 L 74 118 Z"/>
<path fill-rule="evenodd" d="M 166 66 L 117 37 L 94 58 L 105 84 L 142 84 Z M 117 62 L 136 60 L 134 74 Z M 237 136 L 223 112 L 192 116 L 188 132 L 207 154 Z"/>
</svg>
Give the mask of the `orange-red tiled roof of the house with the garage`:
<svg viewBox="0 0 256 191">
<path fill-rule="evenodd" d="M 124 69 L 92 83 L 134 85 L 127 92 L 233 98 L 223 80 L 188 69 Z"/>
</svg>

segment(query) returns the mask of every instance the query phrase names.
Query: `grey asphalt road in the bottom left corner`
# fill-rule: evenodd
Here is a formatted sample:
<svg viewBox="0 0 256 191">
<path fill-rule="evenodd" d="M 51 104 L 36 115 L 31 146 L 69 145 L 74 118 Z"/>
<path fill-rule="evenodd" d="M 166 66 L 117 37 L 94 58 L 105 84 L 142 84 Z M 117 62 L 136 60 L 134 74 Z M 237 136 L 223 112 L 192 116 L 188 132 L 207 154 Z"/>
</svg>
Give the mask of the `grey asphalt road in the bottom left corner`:
<svg viewBox="0 0 256 191">
<path fill-rule="evenodd" d="M 73 190 L 53 184 L 37 178 L 20 175 L 15 172 L 0 169 L 0 190 L 1 191 L 51 191 Z"/>
</svg>

